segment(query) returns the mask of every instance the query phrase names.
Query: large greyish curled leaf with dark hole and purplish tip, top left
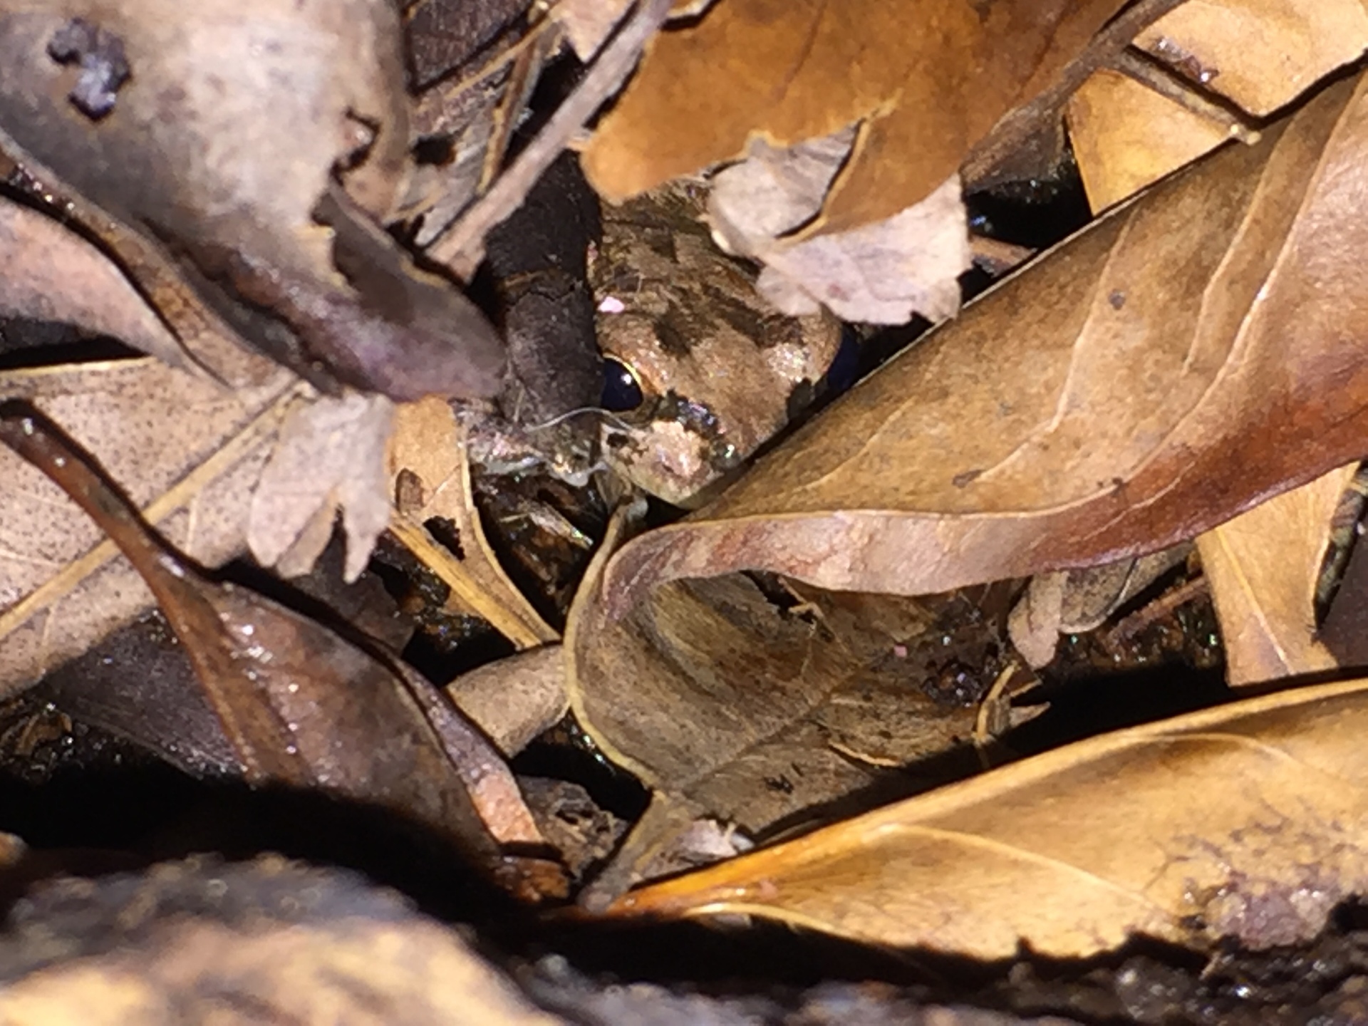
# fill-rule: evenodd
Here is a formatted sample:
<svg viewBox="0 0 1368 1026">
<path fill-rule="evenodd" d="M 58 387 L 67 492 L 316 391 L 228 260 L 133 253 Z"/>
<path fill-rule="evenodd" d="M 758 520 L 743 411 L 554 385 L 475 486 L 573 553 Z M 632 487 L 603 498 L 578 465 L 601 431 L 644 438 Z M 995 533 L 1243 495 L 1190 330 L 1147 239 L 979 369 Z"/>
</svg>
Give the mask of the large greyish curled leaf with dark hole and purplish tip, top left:
<svg viewBox="0 0 1368 1026">
<path fill-rule="evenodd" d="M 105 73 L 98 109 L 82 92 L 89 68 Z M 387 0 L 10 10 L 0 146 L 141 237 L 142 263 L 183 278 L 239 337 L 306 375 L 323 360 L 398 398 L 499 387 L 492 328 L 371 220 L 406 178 Z M 346 197 L 330 187 L 335 167 L 349 167 Z"/>
</svg>

